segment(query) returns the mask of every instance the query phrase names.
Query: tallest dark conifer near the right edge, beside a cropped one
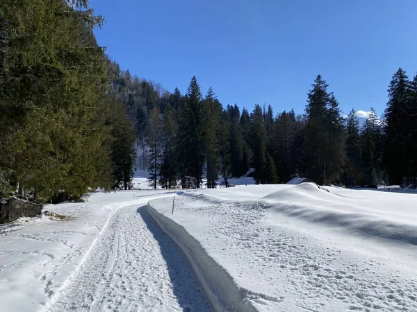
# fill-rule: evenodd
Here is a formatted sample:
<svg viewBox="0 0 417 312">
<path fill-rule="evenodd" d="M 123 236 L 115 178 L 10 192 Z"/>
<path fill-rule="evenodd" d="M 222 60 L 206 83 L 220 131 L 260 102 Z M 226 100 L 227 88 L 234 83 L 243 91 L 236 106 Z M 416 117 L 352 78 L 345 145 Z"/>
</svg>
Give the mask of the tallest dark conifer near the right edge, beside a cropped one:
<svg viewBox="0 0 417 312">
<path fill-rule="evenodd" d="M 391 184 L 402 184 L 406 175 L 407 126 L 409 118 L 410 82 L 403 69 L 398 69 L 389 85 L 389 101 L 385 110 L 385 148 L 383 164 Z"/>
</svg>

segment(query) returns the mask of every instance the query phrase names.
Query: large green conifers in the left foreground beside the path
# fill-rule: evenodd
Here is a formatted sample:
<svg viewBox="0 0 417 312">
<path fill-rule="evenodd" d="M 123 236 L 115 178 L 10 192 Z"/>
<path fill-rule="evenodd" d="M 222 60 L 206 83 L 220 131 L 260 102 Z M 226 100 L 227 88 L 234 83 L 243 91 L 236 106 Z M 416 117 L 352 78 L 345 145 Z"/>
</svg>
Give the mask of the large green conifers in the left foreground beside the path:
<svg viewBox="0 0 417 312">
<path fill-rule="evenodd" d="M 1 1 L 0 197 L 128 187 L 135 132 L 87 1 Z"/>
</svg>

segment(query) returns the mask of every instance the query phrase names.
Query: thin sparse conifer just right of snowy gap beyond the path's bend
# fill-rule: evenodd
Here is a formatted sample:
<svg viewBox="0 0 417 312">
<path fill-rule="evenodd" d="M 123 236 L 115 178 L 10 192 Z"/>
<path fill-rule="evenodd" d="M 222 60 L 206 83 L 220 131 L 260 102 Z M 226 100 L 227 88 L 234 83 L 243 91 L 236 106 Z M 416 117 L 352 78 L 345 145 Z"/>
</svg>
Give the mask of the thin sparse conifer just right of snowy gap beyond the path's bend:
<svg viewBox="0 0 417 312">
<path fill-rule="evenodd" d="M 162 125 L 158 107 L 154 107 L 149 120 L 148 136 L 149 146 L 149 186 L 156 189 L 158 173 L 161 171 L 162 158 Z"/>
</svg>

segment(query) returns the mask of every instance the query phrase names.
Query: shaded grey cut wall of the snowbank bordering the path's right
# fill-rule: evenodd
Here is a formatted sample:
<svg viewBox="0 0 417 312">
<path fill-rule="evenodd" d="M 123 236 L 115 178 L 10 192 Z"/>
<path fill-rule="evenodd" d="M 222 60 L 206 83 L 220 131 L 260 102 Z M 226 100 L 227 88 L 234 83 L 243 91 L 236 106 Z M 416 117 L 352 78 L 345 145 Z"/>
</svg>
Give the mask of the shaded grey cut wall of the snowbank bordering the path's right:
<svg viewBox="0 0 417 312">
<path fill-rule="evenodd" d="M 247 301 L 249 292 L 239 288 L 231 275 L 208 256 L 202 245 L 186 229 L 156 211 L 152 202 L 148 202 L 147 210 L 163 232 L 183 252 L 215 311 L 259 311 Z"/>
</svg>

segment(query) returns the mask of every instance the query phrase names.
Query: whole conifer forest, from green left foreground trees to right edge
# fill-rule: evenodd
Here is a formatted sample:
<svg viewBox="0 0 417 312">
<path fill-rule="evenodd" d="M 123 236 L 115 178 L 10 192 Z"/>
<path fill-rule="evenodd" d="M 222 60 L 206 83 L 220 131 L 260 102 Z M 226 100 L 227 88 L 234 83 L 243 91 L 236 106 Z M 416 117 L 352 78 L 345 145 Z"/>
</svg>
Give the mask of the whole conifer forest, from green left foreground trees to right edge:
<svg viewBox="0 0 417 312">
<path fill-rule="evenodd" d="M 102 22 L 85 0 L 1 1 L 0 197 L 128 189 L 137 166 L 166 189 L 186 175 L 213 188 L 248 172 L 256 184 L 416 182 L 417 76 L 404 69 L 387 81 L 386 110 L 368 107 L 363 124 L 320 75 L 304 112 L 239 107 L 195 76 L 167 91 L 120 69 L 96 42 Z"/>
</svg>

